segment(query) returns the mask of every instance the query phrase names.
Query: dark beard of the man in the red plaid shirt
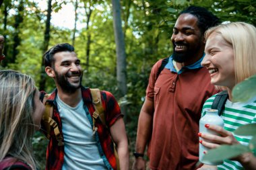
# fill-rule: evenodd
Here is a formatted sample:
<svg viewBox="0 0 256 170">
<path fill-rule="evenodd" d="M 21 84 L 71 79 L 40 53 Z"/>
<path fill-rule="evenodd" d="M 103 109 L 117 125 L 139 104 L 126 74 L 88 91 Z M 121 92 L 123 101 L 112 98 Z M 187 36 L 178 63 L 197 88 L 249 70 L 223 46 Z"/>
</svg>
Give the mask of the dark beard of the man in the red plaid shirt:
<svg viewBox="0 0 256 170">
<path fill-rule="evenodd" d="M 68 74 L 68 73 L 67 73 Z M 67 75 L 66 74 L 66 75 Z M 71 83 L 69 83 L 69 81 L 66 78 L 66 75 L 59 75 L 57 72 L 55 72 L 56 75 L 56 80 L 57 83 L 59 84 L 59 86 L 61 87 L 61 89 L 65 92 L 65 93 L 74 93 L 77 89 L 79 89 L 80 87 L 82 87 L 82 73 L 79 72 L 80 75 L 80 82 L 79 85 L 72 85 Z M 77 73 L 71 73 L 71 75 L 77 75 Z M 69 75 L 70 76 L 70 75 Z"/>
</svg>

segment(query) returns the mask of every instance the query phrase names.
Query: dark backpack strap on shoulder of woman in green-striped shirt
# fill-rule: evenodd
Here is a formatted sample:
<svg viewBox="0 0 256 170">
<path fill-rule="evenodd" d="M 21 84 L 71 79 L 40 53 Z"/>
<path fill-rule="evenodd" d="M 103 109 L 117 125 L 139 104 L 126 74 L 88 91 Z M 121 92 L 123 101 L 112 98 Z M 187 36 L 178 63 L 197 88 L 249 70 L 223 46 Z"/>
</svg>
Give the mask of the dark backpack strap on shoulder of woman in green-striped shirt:
<svg viewBox="0 0 256 170">
<path fill-rule="evenodd" d="M 224 108 L 226 100 L 228 99 L 228 91 L 222 91 L 218 93 L 212 103 L 212 109 L 218 110 L 218 115 L 221 116 Z"/>
</svg>

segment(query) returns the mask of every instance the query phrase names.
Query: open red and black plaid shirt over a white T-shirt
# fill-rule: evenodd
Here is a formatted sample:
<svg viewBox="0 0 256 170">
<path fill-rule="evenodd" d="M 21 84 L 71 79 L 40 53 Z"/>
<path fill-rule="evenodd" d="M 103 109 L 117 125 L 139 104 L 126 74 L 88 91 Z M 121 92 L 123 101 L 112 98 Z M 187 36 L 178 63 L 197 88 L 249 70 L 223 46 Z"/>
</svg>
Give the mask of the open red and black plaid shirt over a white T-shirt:
<svg viewBox="0 0 256 170">
<path fill-rule="evenodd" d="M 53 119 L 55 122 L 57 122 L 61 135 L 63 136 L 61 117 L 59 116 L 59 111 L 57 110 L 57 103 L 55 100 L 56 93 L 57 89 L 55 89 L 55 91 L 49 96 L 47 101 L 53 103 Z M 121 110 L 115 97 L 111 93 L 108 91 L 100 91 L 100 93 L 102 98 L 102 106 L 105 110 L 106 125 L 110 127 L 123 115 L 121 114 Z M 92 118 L 92 114 L 94 113 L 94 105 L 92 103 L 92 95 L 89 88 L 82 87 L 82 97 L 84 99 L 84 104 L 87 106 Z M 101 148 L 99 148 L 101 154 L 100 156 L 106 157 L 107 161 L 105 160 L 104 163 L 108 169 L 113 168 L 115 170 L 117 169 L 117 163 L 114 154 L 113 142 L 110 138 L 110 132 L 98 120 L 96 121 L 95 126 L 98 127 L 97 132 L 101 145 Z M 64 161 L 64 146 L 58 146 L 53 129 L 51 130 L 51 136 L 52 137 L 50 138 L 46 151 L 46 170 L 59 170 L 61 169 Z"/>
</svg>

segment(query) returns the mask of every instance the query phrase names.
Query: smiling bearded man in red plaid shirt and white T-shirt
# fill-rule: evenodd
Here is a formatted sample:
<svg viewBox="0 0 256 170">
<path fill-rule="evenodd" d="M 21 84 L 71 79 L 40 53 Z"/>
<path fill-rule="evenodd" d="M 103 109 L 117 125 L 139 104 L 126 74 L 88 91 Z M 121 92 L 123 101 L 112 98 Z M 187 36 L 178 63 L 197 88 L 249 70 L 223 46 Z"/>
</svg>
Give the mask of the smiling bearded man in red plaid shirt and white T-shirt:
<svg viewBox="0 0 256 170">
<path fill-rule="evenodd" d="M 92 126 L 94 105 L 89 88 L 82 86 L 80 60 L 70 44 L 57 44 L 44 54 L 46 74 L 56 89 L 47 97 L 53 105 L 64 146 L 51 136 L 46 154 L 46 169 L 117 169 L 113 142 L 117 146 L 121 169 L 129 168 L 129 151 L 123 115 L 115 97 L 100 91 L 106 126 L 96 120 Z M 42 92 L 44 94 L 44 92 Z M 44 127 L 42 127 L 44 129 Z M 53 135 L 51 129 L 51 135 Z"/>
</svg>

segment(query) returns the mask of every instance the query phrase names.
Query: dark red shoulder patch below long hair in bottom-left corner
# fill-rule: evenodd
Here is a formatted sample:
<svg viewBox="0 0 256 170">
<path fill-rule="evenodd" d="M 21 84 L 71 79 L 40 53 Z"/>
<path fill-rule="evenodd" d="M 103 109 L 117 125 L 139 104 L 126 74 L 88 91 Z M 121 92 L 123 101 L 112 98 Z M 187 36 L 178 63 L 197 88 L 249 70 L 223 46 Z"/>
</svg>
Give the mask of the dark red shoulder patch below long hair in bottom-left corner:
<svg viewBox="0 0 256 170">
<path fill-rule="evenodd" d="M 22 161 L 17 161 L 13 157 L 7 157 L 0 162 L 0 170 L 31 170 L 31 168 Z"/>
</svg>

